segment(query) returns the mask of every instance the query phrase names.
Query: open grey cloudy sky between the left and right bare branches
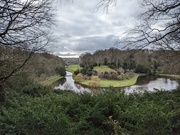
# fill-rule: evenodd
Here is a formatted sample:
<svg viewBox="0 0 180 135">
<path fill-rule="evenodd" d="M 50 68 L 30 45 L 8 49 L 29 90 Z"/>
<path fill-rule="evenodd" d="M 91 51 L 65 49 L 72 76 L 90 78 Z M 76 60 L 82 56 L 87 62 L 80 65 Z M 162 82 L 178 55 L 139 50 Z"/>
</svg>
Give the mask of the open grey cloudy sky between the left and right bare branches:
<svg viewBox="0 0 180 135">
<path fill-rule="evenodd" d="M 109 13 L 97 8 L 99 0 L 74 0 L 55 5 L 56 22 L 51 29 L 56 38 L 48 50 L 61 57 L 77 57 L 111 47 L 132 28 L 142 12 L 141 0 L 117 0 Z"/>
</svg>

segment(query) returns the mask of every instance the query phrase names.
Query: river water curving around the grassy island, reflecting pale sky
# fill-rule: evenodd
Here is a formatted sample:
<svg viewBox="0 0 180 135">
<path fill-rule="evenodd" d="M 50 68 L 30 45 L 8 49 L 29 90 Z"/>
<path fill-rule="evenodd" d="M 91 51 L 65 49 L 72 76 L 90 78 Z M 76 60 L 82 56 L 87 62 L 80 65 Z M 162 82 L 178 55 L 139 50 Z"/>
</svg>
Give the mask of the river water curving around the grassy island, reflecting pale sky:
<svg viewBox="0 0 180 135">
<path fill-rule="evenodd" d="M 137 82 L 133 86 L 124 87 L 124 88 L 116 88 L 124 90 L 125 93 L 132 92 L 143 92 L 143 91 L 156 91 L 156 90 L 165 90 L 171 91 L 180 86 L 180 79 L 171 79 L 165 77 L 154 77 L 154 76 L 141 76 L 138 78 Z M 61 90 L 71 90 L 76 93 L 83 92 L 91 92 L 97 90 L 97 88 L 84 87 L 80 84 L 76 84 L 74 79 L 72 78 L 71 72 L 66 72 L 66 77 L 64 79 L 56 82 L 55 89 Z M 98 90 L 103 90 L 103 88 L 99 88 Z"/>
</svg>

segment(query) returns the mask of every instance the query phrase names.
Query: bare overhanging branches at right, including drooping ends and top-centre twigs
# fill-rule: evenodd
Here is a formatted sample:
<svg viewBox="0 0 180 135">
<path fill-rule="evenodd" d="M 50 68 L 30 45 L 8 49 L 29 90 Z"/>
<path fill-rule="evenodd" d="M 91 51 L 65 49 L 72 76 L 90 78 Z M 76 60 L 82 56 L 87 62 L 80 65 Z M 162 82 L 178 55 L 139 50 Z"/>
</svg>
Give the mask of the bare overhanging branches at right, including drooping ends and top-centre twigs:
<svg viewBox="0 0 180 135">
<path fill-rule="evenodd" d="M 100 6 L 108 10 L 111 2 L 116 3 L 101 0 Z M 145 11 L 139 15 L 138 24 L 118 43 L 130 49 L 161 50 L 160 56 L 170 61 L 169 67 L 174 70 L 174 65 L 180 63 L 180 1 L 142 0 L 141 6 Z"/>
</svg>

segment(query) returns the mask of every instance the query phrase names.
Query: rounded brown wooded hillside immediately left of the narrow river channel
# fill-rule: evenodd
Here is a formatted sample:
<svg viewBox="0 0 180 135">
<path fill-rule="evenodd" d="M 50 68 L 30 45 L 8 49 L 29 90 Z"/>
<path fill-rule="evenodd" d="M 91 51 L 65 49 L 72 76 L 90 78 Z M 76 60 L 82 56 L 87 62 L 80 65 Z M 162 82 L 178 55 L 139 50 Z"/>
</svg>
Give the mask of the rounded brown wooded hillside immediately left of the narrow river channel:
<svg viewBox="0 0 180 135">
<path fill-rule="evenodd" d="M 65 70 L 65 63 L 62 58 L 48 53 L 36 53 L 27 62 L 22 71 L 38 82 L 49 77 L 60 75 L 59 70 Z"/>
</svg>

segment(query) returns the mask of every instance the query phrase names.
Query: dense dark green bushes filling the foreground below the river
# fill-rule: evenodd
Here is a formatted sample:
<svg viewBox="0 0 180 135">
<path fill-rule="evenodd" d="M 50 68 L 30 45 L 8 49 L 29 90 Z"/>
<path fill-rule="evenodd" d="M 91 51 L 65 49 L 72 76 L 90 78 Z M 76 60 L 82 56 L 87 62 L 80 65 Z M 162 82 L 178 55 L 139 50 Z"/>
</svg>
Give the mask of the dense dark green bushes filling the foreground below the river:
<svg viewBox="0 0 180 135">
<path fill-rule="evenodd" d="M 131 95 L 112 89 L 94 95 L 59 90 L 39 96 L 14 92 L 1 107 L 0 134 L 178 134 L 179 97 L 180 89 Z"/>
</svg>

